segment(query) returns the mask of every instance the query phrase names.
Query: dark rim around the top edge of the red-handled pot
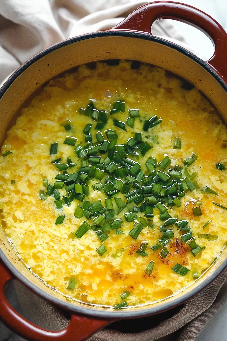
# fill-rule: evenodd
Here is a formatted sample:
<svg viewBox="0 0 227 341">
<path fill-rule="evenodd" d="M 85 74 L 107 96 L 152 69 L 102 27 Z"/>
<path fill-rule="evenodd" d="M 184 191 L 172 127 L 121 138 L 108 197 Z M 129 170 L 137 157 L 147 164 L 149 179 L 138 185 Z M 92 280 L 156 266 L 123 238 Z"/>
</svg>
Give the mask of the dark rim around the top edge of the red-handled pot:
<svg viewBox="0 0 227 341">
<path fill-rule="evenodd" d="M 150 40 L 150 41 L 155 41 L 159 44 L 171 47 L 182 54 L 186 55 L 190 59 L 194 60 L 196 63 L 198 63 L 202 68 L 207 70 L 209 74 L 214 77 L 217 82 L 224 88 L 224 90 L 227 92 L 227 84 L 224 82 L 224 80 L 213 70 L 211 67 L 192 54 L 191 52 L 185 50 L 183 47 L 180 47 L 174 43 L 171 43 L 169 41 L 166 41 L 164 39 L 158 38 L 156 36 L 140 33 L 140 32 L 130 32 L 130 31 L 102 31 L 102 32 L 96 32 L 96 33 L 91 33 L 91 34 L 85 34 L 85 35 L 80 35 L 75 38 L 70 38 L 67 40 L 64 40 L 60 43 L 54 44 L 47 49 L 43 50 L 42 52 L 38 53 L 31 59 L 29 59 L 25 64 L 20 66 L 18 70 L 16 70 L 10 78 L 3 84 L 3 86 L 0 89 L 0 98 L 3 96 L 5 91 L 10 87 L 10 85 L 14 82 L 14 80 L 27 68 L 29 68 L 30 65 L 32 65 L 34 62 L 36 62 L 38 59 L 42 58 L 43 56 L 47 55 L 48 53 L 72 44 L 76 43 L 81 40 L 87 40 L 91 38 L 96 38 L 96 37 L 105 37 L 105 36 L 125 36 L 125 37 L 131 37 L 131 38 L 140 38 L 140 39 L 145 39 L 145 40 Z M 153 315 L 153 314 L 158 314 L 161 313 L 165 310 L 169 310 L 171 308 L 174 308 L 180 304 L 182 304 L 185 300 L 189 299 L 191 296 L 195 295 L 197 292 L 202 290 L 206 285 L 208 285 L 211 281 L 213 281 L 220 273 L 221 271 L 227 266 L 227 258 L 226 260 L 219 266 L 212 274 L 212 276 L 208 277 L 205 281 L 201 281 L 200 285 L 198 287 L 195 287 L 192 289 L 189 293 L 185 294 L 183 298 L 178 297 L 178 295 L 175 296 L 175 299 L 173 301 L 169 301 L 166 299 L 164 307 L 160 308 L 157 307 L 155 304 L 151 304 L 150 306 L 146 306 L 144 309 L 143 308 L 135 308 L 135 309 L 122 309 L 122 310 L 112 310 L 112 309 L 105 309 L 105 310 L 100 310 L 95 307 L 90 307 L 86 308 L 84 305 L 74 305 L 73 303 L 67 303 L 62 301 L 61 299 L 54 297 L 50 295 L 49 293 L 45 292 L 38 286 L 36 286 L 34 283 L 30 282 L 25 276 L 22 275 L 22 273 L 15 268 L 15 266 L 10 262 L 10 260 L 5 256 L 5 254 L 2 252 L 0 249 L 0 258 L 3 262 L 3 264 L 12 272 L 16 279 L 20 280 L 23 284 L 25 284 L 28 288 L 30 288 L 33 292 L 36 294 L 42 296 L 43 298 L 47 299 L 51 303 L 53 303 L 56 306 L 59 306 L 61 308 L 64 308 L 66 310 L 69 310 L 71 312 L 75 312 L 77 314 L 83 314 L 83 315 L 90 315 L 94 317 L 100 317 L 100 318 L 133 318 L 133 317 L 139 317 L 139 316 L 148 316 L 148 315 Z"/>
</svg>

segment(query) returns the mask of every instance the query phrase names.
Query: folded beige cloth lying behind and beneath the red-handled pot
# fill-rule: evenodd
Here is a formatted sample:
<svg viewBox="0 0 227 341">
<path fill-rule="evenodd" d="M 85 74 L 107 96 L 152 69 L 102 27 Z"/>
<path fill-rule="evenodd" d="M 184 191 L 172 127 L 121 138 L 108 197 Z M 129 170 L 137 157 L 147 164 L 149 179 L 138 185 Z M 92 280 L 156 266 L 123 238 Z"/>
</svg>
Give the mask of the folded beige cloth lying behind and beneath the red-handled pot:
<svg viewBox="0 0 227 341">
<path fill-rule="evenodd" d="M 108 30 L 144 3 L 146 1 L 1 0 L 0 83 L 39 51 L 66 38 Z M 184 37 L 165 20 L 155 23 L 152 33 L 194 52 Z M 149 317 L 146 318 L 146 330 L 127 333 L 123 332 L 122 326 L 115 324 L 98 331 L 90 341 L 193 341 L 226 302 L 226 277 L 227 270 L 224 270 L 215 281 L 184 305 L 160 316 L 157 325 L 154 317 Z M 9 285 L 7 296 L 26 318 L 43 328 L 59 330 L 69 322 L 62 312 L 19 282 Z M 137 323 L 140 325 L 138 329 L 142 330 L 143 322 L 129 321 L 127 325 L 130 323 Z M 8 339 L 23 340 L 0 324 L 0 341 Z"/>
</svg>

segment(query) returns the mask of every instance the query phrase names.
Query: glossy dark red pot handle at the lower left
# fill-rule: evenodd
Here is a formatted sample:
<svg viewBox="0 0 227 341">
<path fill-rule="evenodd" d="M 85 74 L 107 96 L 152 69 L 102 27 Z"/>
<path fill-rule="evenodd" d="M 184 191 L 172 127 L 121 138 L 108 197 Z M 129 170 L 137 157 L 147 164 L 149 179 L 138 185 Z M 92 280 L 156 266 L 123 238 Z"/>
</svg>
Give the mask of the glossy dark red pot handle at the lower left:
<svg viewBox="0 0 227 341">
<path fill-rule="evenodd" d="M 7 327 L 26 340 L 84 341 L 98 329 L 113 322 L 71 314 L 70 323 L 64 330 L 48 331 L 39 328 L 21 316 L 6 300 L 4 288 L 12 279 L 13 276 L 0 263 L 0 318 Z"/>
</svg>

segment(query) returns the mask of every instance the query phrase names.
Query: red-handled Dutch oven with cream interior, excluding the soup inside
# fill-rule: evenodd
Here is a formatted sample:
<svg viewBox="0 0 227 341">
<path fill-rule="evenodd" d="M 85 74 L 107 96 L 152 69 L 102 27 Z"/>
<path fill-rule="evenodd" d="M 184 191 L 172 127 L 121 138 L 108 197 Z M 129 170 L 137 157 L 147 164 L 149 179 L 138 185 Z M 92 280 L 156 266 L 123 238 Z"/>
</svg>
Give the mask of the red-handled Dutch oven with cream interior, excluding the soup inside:
<svg viewBox="0 0 227 341">
<path fill-rule="evenodd" d="M 176 19 L 206 33 L 215 51 L 202 61 L 184 48 L 151 35 L 151 25 L 163 18 Z M 0 90 L 1 127 L 5 131 L 15 113 L 29 96 L 49 79 L 78 65 L 107 59 L 129 59 L 155 64 L 188 80 L 201 90 L 227 121 L 227 34 L 209 15 L 194 7 L 168 1 L 145 4 L 109 31 L 85 34 L 55 44 L 23 64 Z M 82 341 L 99 328 L 123 318 L 158 314 L 182 304 L 204 288 L 227 265 L 227 251 L 182 292 L 159 302 L 121 310 L 68 300 L 38 280 L 22 264 L 1 231 L 0 237 L 0 318 L 15 333 L 33 341 Z M 23 318 L 6 300 L 4 288 L 18 279 L 33 292 L 71 314 L 68 327 L 48 331 Z"/>
</svg>

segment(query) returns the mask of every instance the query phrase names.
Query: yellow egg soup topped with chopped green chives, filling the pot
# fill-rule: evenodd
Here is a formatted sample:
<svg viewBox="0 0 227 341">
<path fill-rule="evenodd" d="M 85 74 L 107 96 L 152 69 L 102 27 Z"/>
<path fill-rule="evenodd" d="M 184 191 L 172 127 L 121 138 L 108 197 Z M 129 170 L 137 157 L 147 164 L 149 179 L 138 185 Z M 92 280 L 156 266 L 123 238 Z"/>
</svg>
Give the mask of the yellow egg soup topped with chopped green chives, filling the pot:
<svg viewBox="0 0 227 341">
<path fill-rule="evenodd" d="M 2 146 L 0 205 L 34 273 L 120 309 L 183 290 L 222 252 L 227 132 L 182 79 L 109 64 L 51 80 L 21 109 Z"/>
</svg>

